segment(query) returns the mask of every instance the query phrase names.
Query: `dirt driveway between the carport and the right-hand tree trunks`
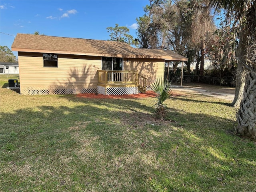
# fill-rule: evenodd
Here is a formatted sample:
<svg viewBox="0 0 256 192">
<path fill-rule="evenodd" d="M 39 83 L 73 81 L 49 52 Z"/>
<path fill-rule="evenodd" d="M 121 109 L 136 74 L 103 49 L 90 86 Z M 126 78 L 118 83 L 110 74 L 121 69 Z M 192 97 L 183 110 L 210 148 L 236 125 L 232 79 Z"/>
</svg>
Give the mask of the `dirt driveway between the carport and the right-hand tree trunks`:
<svg viewBox="0 0 256 192">
<path fill-rule="evenodd" d="M 196 94 L 203 94 L 231 101 L 234 100 L 235 94 L 235 88 L 194 83 L 183 84 L 182 87 L 178 84 L 174 84 L 173 90 L 177 90 L 180 92 L 194 92 Z"/>
</svg>

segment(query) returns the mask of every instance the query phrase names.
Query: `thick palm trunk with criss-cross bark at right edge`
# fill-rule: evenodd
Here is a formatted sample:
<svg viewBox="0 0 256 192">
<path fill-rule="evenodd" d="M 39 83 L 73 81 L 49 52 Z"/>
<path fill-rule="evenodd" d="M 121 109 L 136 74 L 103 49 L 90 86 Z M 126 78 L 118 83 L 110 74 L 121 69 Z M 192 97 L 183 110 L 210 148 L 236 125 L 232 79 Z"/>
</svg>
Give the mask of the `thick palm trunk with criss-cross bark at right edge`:
<svg viewBox="0 0 256 192">
<path fill-rule="evenodd" d="M 236 132 L 256 139 L 256 68 L 249 68 L 244 86 L 244 98 L 237 114 Z"/>
</svg>

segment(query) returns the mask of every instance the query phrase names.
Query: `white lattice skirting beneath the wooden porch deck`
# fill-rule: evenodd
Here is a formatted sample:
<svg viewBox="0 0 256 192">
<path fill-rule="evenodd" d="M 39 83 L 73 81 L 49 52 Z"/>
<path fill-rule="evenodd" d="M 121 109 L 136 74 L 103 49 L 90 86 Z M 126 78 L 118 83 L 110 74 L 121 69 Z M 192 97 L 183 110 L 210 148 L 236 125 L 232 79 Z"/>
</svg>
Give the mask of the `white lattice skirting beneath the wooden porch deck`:
<svg viewBox="0 0 256 192">
<path fill-rule="evenodd" d="M 102 87 L 97 86 L 98 94 L 102 95 L 130 95 L 138 94 L 138 87 Z"/>
</svg>

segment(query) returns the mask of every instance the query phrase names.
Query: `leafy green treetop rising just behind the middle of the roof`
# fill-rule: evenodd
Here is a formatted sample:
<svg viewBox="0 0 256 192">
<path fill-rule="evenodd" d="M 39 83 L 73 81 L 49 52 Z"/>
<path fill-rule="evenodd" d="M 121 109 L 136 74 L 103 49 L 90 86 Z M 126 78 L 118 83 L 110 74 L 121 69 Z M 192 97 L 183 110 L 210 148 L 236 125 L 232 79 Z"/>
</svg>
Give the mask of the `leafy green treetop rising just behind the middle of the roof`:
<svg viewBox="0 0 256 192">
<path fill-rule="evenodd" d="M 118 26 L 118 24 L 116 24 L 115 27 L 108 27 L 106 30 L 110 33 L 110 41 L 120 41 L 129 45 L 138 45 L 138 42 L 132 37 L 132 35 L 128 34 L 130 30 L 125 26 Z"/>
</svg>

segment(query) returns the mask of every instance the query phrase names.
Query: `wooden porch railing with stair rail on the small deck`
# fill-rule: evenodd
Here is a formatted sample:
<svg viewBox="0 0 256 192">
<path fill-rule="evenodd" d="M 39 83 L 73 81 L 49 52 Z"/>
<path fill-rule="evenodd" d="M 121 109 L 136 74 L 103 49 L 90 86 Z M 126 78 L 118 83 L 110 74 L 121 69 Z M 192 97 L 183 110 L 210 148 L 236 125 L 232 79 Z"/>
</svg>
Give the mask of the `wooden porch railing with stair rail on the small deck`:
<svg viewBox="0 0 256 192">
<path fill-rule="evenodd" d="M 98 70 L 98 83 L 104 85 L 135 84 L 140 92 L 146 92 L 147 78 L 138 74 L 138 71 Z"/>
</svg>

